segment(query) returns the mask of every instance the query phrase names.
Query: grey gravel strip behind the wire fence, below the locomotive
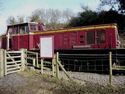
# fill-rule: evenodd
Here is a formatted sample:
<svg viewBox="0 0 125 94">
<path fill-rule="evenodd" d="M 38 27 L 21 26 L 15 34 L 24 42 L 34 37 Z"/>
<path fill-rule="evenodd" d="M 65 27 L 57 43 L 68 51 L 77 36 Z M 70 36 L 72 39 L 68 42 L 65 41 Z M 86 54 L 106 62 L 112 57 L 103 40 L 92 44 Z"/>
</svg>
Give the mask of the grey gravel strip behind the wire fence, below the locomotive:
<svg viewBox="0 0 125 94">
<path fill-rule="evenodd" d="M 44 73 L 52 75 L 52 72 L 44 70 Z M 91 83 L 95 84 L 98 83 L 100 85 L 106 85 L 109 84 L 109 75 L 104 75 L 104 74 L 97 74 L 97 73 L 85 73 L 85 72 L 67 72 L 69 76 L 75 80 L 79 81 L 81 83 Z M 60 71 L 59 72 L 59 78 L 65 78 L 66 75 L 64 72 Z M 113 84 L 116 85 L 125 85 L 125 76 L 113 76 Z"/>
</svg>

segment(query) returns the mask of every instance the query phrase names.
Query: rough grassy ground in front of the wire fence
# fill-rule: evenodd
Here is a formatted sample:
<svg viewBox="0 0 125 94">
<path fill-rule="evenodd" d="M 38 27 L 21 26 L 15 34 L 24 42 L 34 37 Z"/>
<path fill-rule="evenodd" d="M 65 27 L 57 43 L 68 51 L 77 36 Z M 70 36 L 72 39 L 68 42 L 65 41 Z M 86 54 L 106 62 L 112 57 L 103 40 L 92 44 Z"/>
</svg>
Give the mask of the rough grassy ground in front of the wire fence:
<svg viewBox="0 0 125 94">
<path fill-rule="evenodd" d="M 40 72 L 25 69 L 24 72 L 18 72 L 19 75 L 27 79 L 27 85 L 21 87 L 21 85 L 13 88 L 0 87 L 0 93 L 5 94 L 7 92 L 14 94 L 124 94 L 125 86 L 110 86 L 99 84 L 79 84 L 78 82 L 71 82 L 63 78 L 56 79 L 50 75 Z"/>
</svg>

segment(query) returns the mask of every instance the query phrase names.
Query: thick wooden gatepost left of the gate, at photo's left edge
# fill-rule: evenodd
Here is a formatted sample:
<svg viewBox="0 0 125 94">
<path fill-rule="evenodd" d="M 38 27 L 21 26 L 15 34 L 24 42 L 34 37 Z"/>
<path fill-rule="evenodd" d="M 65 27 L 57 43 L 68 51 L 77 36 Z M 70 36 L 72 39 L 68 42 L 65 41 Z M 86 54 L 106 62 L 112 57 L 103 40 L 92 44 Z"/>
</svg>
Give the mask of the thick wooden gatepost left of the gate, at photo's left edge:
<svg viewBox="0 0 125 94">
<path fill-rule="evenodd" d="M 0 49 L 0 78 L 4 76 L 4 49 Z"/>
</svg>

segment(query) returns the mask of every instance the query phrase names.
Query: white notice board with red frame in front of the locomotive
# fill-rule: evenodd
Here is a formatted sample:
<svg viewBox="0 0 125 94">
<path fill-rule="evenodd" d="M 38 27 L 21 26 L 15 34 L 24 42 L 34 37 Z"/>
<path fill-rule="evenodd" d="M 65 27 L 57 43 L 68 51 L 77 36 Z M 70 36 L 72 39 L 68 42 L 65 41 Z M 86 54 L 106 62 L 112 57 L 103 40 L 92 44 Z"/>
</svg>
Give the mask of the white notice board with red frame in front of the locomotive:
<svg viewBox="0 0 125 94">
<path fill-rule="evenodd" d="M 40 37 L 40 58 L 54 58 L 54 36 Z"/>
</svg>

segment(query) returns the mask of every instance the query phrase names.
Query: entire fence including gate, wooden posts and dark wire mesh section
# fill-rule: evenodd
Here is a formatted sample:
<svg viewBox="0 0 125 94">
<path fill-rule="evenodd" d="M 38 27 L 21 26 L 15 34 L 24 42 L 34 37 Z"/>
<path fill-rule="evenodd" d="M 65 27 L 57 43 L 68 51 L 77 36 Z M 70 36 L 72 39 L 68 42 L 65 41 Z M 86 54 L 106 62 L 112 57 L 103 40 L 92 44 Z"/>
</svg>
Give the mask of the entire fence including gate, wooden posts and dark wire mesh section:
<svg viewBox="0 0 125 94">
<path fill-rule="evenodd" d="M 59 78 L 60 70 L 62 70 L 71 81 L 72 78 L 67 71 L 82 72 L 85 69 L 87 71 L 108 71 L 109 82 L 112 85 L 113 70 L 125 70 L 125 54 L 112 54 L 112 52 L 109 54 L 61 54 L 57 52 L 54 58 L 48 61 L 39 58 L 37 52 L 25 49 L 12 52 L 0 49 L 0 55 L 0 75 L 23 71 L 27 59 L 32 61 L 33 66 L 41 68 L 41 74 L 44 73 L 44 70 L 49 70 L 53 76 Z"/>
</svg>

